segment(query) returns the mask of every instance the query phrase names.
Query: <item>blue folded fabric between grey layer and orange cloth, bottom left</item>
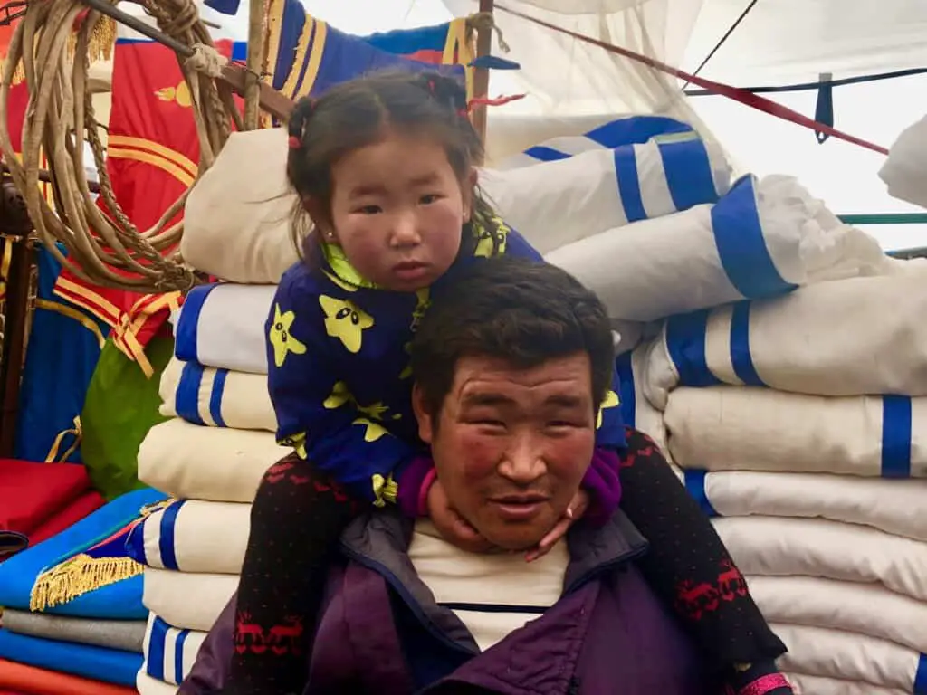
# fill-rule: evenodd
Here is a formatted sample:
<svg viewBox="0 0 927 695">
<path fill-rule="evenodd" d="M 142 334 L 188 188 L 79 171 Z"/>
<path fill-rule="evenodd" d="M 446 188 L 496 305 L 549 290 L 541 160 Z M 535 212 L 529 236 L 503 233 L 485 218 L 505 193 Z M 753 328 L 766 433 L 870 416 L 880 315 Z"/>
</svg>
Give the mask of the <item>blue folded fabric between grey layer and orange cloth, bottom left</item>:
<svg viewBox="0 0 927 695">
<path fill-rule="evenodd" d="M 17 635 L 0 628 L 0 659 L 48 671 L 95 678 L 121 686 L 135 685 L 144 657 L 132 651 Z M 90 695 L 88 693 L 87 695 Z"/>
</svg>

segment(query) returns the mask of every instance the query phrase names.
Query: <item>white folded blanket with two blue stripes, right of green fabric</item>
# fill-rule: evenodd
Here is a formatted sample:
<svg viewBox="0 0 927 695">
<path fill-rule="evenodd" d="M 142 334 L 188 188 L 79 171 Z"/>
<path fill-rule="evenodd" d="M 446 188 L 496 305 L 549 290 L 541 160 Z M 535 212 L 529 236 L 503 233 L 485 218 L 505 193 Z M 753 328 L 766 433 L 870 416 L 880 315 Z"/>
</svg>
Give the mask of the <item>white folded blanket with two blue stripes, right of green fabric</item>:
<svg viewBox="0 0 927 695">
<path fill-rule="evenodd" d="M 161 374 L 161 414 L 188 423 L 276 432 L 264 374 L 230 372 L 171 358 Z"/>
</svg>

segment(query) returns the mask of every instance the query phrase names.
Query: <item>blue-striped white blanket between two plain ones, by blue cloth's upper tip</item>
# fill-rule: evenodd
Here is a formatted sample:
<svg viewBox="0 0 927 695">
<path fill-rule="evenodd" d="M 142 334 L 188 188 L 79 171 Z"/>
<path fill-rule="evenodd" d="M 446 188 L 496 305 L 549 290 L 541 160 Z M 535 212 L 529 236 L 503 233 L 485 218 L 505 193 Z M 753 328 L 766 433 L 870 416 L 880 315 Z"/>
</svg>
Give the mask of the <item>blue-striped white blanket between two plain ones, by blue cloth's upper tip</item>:
<svg viewBox="0 0 927 695">
<path fill-rule="evenodd" d="M 251 505 L 178 499 L 136 526 L 127 547 L 146 567 L 237 575 L 248 547 Z"/>
</svg>

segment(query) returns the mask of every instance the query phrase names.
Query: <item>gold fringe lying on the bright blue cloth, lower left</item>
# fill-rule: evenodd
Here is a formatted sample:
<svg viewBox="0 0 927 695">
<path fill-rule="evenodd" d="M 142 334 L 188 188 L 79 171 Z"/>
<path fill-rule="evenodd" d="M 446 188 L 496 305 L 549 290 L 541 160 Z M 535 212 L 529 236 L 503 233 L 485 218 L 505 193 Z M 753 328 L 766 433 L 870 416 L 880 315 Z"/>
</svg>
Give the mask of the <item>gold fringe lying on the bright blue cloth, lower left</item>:
<svg viewBox="0 0 927 695">
<path fill-rule="evenodd" d="M 29 610 L 41 613 L 77 599 L 97 588 L 141 575 L 144 568 L 132 558 L 91 558 L 77 555 L 44 571 L 35 580 Z"/>
</svg>

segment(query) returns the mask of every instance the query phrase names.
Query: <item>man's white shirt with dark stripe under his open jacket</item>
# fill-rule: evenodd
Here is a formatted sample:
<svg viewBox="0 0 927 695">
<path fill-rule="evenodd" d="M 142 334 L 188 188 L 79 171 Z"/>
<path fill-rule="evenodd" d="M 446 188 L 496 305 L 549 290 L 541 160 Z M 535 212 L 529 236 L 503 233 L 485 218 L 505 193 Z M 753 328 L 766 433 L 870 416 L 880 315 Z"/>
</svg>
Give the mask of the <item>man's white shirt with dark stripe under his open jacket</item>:
<svg viewBox="0 0 927 695">
<path fill-rule="evenodd" d="M 438 604 L 450 608 L 486 651 L 560 599 L 569 551 L 561 541 L 530 563 L 524 552 L 476 554 L 451 545 L 420 519 L 409 559 Z"/>
</svg>

